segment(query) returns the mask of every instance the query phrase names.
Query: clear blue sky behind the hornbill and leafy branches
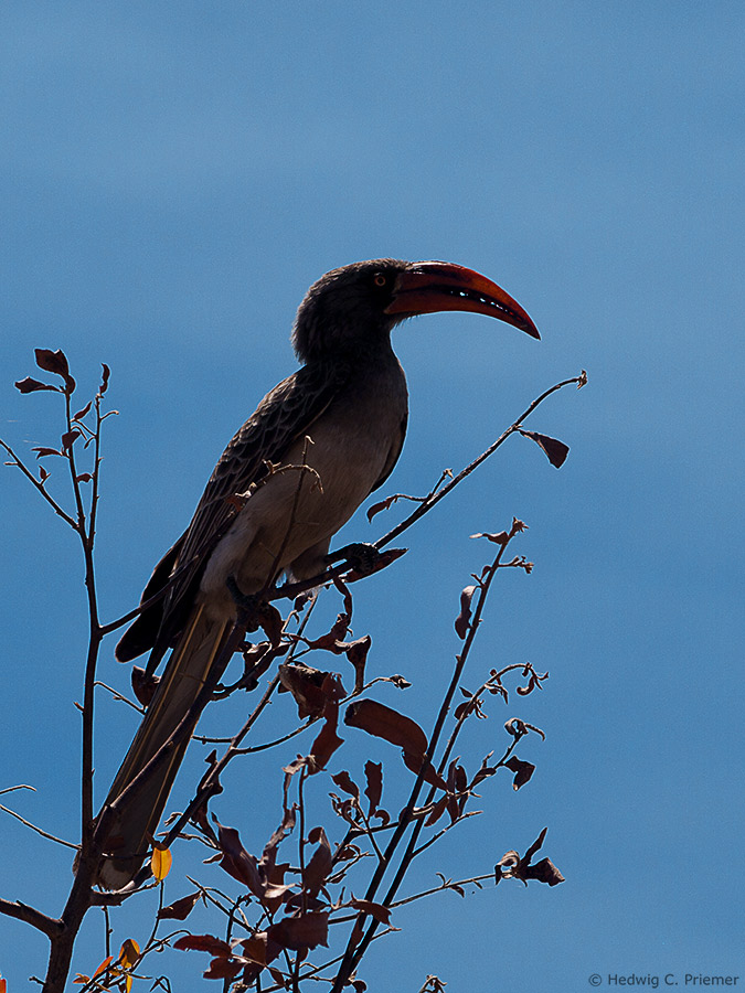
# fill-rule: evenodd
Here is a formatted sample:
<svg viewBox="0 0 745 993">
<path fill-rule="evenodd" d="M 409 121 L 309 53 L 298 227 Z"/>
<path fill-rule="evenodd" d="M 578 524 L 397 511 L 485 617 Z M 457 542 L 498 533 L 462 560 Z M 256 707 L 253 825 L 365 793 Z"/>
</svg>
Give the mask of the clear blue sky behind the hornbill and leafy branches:
<svg viewBox="0 0 745 993">
<path fill-rule="evenodd" d="M 486 560 L 468 535 L 528 522 L 517 551 L 535 569 L 499 577 L 465 682 L 512 661 L 550 670 L 540 698 L 490 700 L 469 745 L 480 759 L 521 716 L 547 734 L 520 748 L 538 772 L 517 794 L 487 783 L 483 816 L 412 887 L 488 872 L 544 825 L 567 882 L 402 910 L 403 933 L 362 972 L 371 989 L 418 990 L 428 973 L 454 991 L 542 993 L 590 973 L 682 985 L 742 972 L 743 20 L 735 2 L 648 0 L 3 6 L 2 437 L 56 440 L 56 397 L 12 388 L 35 346 L 62 348 L 82 392 L 111 366 L 106 617 L 137 599 L 226 440 L 295 369 L 292 316 L 327 269 L 457 261 L 504 286 L 543 335 L 455 313 L 398 329 L 412 424 L 386 492 L 426 491 L 543 388 L 589 373 L 529 425 L 571 446 L 564 468 L 511 439 L 359 588 L 354 618 L 373 634 L 370 664 L 414 683 L 381 698 L 426 726 L 460 588 Z M 10 469 L 0 501 L 0 788 L 33 783 L 10 805 L 75 837 L 77 549 Z M 344 534 L 386 525 L 360 514 Z M 111 649 L 100 677 L 124 686 Z M 207 723 L 227 733 L 245 706 Z M 103 796 L 134 724 L 104 698 L 99 714 Z M 349 743 L 344 768 L 359 772 L 368 746 Z M 215 807 L 252 850 L 294 755 L 236 769 Z M 7 816 L 0 832 L 0 895 L 60 912 L 67 851 Z M 216 869 L 210 880 L 226 885 Z M 123 910 L 117 938 L 145 930 L 145 907 Z M 92 915 L 79 971 L 102 935 Z M 9 990 L 42 972 L 45 944 L 0 918 Z M 177 989 L 210 989 L 205 964 L 174 952 L 162 969 Z"/>
</svg>

